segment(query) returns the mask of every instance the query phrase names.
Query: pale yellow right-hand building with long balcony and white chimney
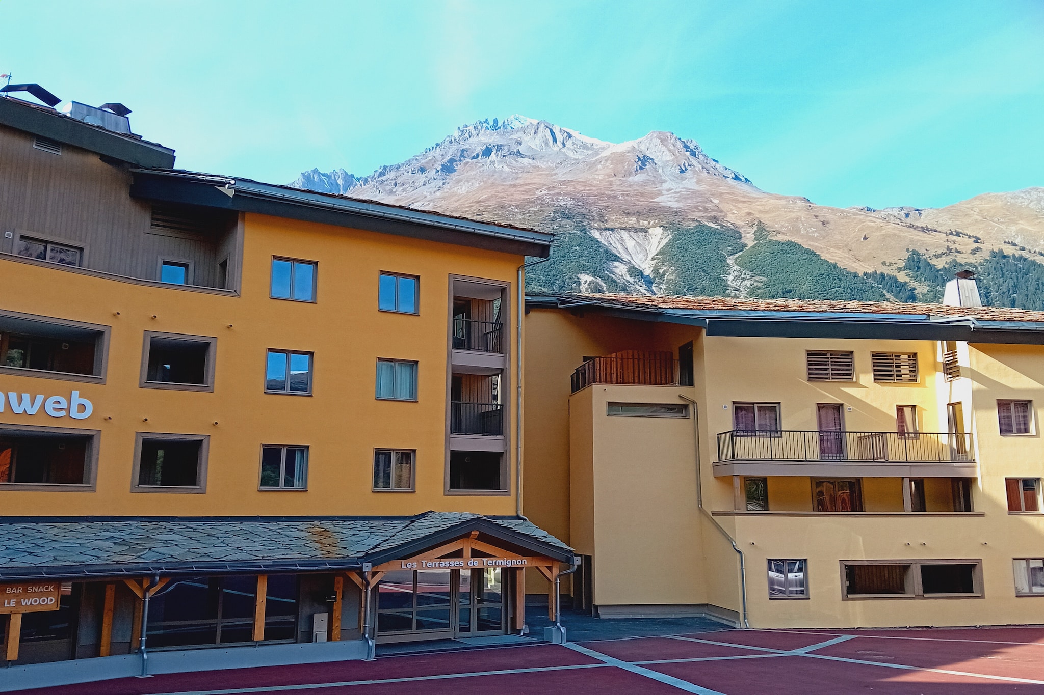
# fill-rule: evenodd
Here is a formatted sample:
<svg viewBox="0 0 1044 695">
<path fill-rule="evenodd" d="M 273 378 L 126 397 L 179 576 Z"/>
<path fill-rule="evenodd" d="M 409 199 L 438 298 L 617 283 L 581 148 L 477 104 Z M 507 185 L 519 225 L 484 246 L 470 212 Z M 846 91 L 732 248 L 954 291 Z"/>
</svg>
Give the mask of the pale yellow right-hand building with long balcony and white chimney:
<svg viewBox="0 0 1044 695">
<path fill-rule="evenodd" d="M 977 298 L 528 297 L 525 512 L 583 554 L 574 603 L 1044 623 L 1044 313 Z"/>
</svg>

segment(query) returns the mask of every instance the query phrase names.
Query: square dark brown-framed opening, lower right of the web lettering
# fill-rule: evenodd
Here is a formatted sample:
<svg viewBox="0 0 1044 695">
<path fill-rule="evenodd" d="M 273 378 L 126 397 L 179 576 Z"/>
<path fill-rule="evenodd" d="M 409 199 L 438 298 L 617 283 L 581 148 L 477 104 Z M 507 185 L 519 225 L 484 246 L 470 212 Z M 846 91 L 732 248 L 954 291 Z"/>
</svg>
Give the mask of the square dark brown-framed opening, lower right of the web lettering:
<svg viewBox="0 0 1044 695">
<path fill-rule="evenodd" d="M 139 432 L 134 491 L 206 492 L 209 443 L 210 437 L 206 435 Z"/>
</svg>

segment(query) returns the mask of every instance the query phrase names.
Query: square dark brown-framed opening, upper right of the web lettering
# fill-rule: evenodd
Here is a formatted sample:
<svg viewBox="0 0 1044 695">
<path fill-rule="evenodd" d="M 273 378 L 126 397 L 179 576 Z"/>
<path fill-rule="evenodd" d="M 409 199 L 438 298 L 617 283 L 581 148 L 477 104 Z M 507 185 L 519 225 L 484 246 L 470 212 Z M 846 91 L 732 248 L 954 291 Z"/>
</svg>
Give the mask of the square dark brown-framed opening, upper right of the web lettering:
<svg viewBox="0 0 1044 695">
<path fill-rule="evenodd" d="M 216 338 L 145 331 L 143 389 L 214 390 Z"/>
</svg>

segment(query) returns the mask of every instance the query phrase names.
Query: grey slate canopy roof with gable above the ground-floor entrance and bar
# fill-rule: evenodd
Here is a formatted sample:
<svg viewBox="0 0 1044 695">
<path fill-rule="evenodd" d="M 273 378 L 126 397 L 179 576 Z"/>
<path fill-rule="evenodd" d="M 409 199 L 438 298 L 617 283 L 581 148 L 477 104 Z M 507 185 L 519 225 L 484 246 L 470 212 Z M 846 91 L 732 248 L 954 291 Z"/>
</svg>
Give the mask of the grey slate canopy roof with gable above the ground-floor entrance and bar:
<svg viewBox="0 0 1044 695">
<path fill-rule="evenodd" d="M 408 556 L 479 530 L 566 560 L 572 550 L 520 517 L 0 518 L 0 579 L 319 571 Z"/>
</svg>

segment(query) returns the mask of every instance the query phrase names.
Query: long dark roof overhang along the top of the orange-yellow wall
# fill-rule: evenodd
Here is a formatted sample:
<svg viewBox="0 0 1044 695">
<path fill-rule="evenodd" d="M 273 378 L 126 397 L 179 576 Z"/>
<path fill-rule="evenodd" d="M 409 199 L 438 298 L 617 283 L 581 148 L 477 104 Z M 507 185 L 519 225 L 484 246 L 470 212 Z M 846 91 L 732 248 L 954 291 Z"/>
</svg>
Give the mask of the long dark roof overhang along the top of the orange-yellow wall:
<svg viewBox="0 0 1044 695">
<path fill-rule="evenodd" d="M 140 169 L 134 172 L 130 195 L 148 200 L 271 215 L 517 255 L 546 258 L 551 253 L 551 234 L 539 231 L 247 179 Z"/>
</svg>

